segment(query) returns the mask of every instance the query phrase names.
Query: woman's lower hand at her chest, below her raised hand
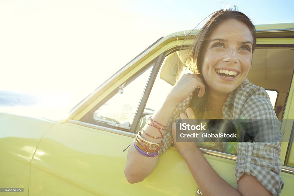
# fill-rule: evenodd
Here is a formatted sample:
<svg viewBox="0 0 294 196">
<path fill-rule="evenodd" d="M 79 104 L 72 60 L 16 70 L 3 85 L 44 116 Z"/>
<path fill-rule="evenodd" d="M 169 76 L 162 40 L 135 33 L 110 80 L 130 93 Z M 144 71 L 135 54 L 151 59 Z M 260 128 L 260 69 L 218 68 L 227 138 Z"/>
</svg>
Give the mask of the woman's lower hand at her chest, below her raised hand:
<svg viewBox="0 0 294 196">
<path fill-rule="evenodd" d="M 191 120 L 196 119 L 194 112 L 192 108 L 187 108 L 185 113 L 181 113 L 176 120 Z M 196 142 L 176 142 L 176 122 L 174 121 L 171 125 L 171 130 L 173 132 L 173 141 L 180 152 L 180 154 L 183 156 L 183 153 L 189 153 L 190 151 L 195 150 L 197 148 Z"/>
</svg>

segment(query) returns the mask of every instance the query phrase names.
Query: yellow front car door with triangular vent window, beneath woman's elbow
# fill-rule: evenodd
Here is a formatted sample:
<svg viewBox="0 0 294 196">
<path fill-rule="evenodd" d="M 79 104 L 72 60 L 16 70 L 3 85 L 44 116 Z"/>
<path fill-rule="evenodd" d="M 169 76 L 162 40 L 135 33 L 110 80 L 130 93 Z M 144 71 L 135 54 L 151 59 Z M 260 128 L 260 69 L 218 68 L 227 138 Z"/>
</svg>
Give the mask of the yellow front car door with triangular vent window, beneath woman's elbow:
<svg viewBox="0 0 294 196">
<path fill-rule="evenodd" d="M 148 97 L 146 93 L 150 92 L 163 57 L 161 54 L 149 58 L 144 66 L 133 66 L 128 73 L 120 73 L 121 80 L 115 78 L 111 87 L 105 84 L 99 91 L 104 93 L 104 98 L 93 94 L 92 99 L 85 100 L 83 108 L 77 109 L 76 117 L 55 123 L 46 132 L 32 160 L 29 195 L 133 195 L 142 191 L 151 194 L 158 190 L 157 182 L 161 182 L 163 195 L 187 192 L 180 187 L 192 187 L 195 192 L 195 182 L 188 169 L 183 172 L 177 168 L 185 167 L 185 162 L 176 150 L 170 153 L 171 157 L 178 156 L 179 163 L 171 164 L 175 172 L 168 172 L 168 178 L 174 179 L 173 187 L 178 187 L 177 190 L 170 189 L 170 181 L 163 181 L 166 176 L 151 175 L 146 180 L 148 186 L 146 182 L 131 185 L 123 173 L 127 155 L 123 149 L 135 136 L 132 131 L 140 120 L 137 113 L 145 114 L 138 108 L 142 107 L 143 98 Z M 189 183 L 184 185 L 177 174 L 190 178 Z"/>
</svg>

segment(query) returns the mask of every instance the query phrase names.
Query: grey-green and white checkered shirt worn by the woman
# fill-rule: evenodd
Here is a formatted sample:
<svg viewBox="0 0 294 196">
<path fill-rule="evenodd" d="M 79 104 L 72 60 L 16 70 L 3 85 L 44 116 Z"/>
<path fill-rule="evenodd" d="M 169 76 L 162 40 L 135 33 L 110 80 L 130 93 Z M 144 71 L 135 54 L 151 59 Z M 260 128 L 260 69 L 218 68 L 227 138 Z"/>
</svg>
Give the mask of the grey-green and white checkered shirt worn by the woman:
<svg viewBox="0 0 294 196">
<path fill-rule="evenodd" d="M 171 124 L 179 117 L 180 113 L 185 113 L 192 97 L 193 93 L 186 100 L 179 103 L 173 111 L 164 133 L 160 154 L 170 147 L 173 141 Z M 235 146 L 237 148 L 235 176 L 238 183 L 238 180 L 244 173 L 253 175 L 274 196 L 280 195 L 284 185 L 283 179 L 280 176 L 281 123 L 275 115 L 265 89 L 255 86 L 248 79 L 245 79 L 235 91 L 229 94 L 222 112 L 223 119 L 272 119 L 273 122 L 276 122 L 272 125 L 271 134 L 265 132 L 254 133 L 253 131 L 251 134 L 258 135 L 255 138 L 255 142 L 237 143 Z M 255 130 L 254 126 L 252 124 L 253 130 Z M 256 141 L 258 138 L 262 138 L 260 141 L 263 142 Z M 269 142 L 264 142 L 264 138 Z M 197 143 L 197 146 L 202 147 L 201 143 Z"/>
</svg>

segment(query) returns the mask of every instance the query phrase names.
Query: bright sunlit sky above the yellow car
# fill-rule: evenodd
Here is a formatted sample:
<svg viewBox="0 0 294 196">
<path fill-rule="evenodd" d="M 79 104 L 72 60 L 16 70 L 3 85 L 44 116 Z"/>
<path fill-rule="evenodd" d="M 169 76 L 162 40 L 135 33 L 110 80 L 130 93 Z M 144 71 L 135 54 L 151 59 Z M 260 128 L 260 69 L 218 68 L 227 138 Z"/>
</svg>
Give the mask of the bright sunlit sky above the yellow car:
<svg viewBox="0 0 294 196">
<path fill-rule="evenodd" d="M 293 1 L 1 0 L 0 90 L 71 108 L 161 36 L 232 5 L 254 24 L 294 22 Z"/>
</svg>

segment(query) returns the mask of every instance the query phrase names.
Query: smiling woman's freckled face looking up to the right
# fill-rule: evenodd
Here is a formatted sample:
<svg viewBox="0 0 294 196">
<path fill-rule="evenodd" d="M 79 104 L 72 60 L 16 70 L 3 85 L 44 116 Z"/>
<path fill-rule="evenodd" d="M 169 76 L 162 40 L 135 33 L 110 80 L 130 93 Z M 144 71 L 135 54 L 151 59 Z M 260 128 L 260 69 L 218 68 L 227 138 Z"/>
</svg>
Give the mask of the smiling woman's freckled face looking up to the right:
<svg viewBox="0 0 294 196">
<path fill-rule="evenodd" d="M 251 66 L 252 43 L 249 28 L 235 19 L 222 22 L 212 31 L 202 64 L 210 93 L 227 94 L 243 82 Z"/>
</svg>

